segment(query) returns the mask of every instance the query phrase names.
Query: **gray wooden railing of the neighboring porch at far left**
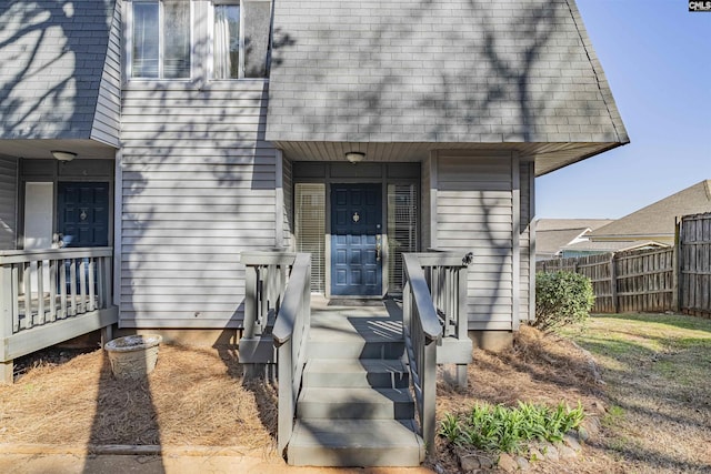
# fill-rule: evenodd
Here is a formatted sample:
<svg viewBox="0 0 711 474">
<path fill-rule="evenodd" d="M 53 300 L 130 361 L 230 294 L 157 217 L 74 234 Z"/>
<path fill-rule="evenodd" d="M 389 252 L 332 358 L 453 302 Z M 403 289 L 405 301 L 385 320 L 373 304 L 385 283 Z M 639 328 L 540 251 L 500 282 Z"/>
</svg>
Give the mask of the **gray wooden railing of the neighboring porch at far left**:
<svg viewBox="0 0 711 474">
<path fill-rule="evenodd" d="M 112 259 L 111 248 L 0 251 L 0 376 L 11 381 L 16 357 L 117 322 Z"/>
</svg>

